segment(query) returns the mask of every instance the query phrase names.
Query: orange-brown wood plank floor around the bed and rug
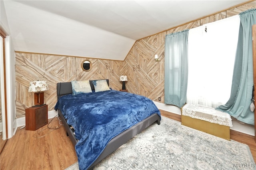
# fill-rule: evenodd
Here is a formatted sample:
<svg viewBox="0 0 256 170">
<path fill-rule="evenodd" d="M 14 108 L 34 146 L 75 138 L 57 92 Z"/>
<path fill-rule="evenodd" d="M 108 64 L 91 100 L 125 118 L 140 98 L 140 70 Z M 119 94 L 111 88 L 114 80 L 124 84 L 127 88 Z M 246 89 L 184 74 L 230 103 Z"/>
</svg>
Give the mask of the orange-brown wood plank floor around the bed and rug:
<svg viewBox="0 0 256 170">
<path fill-rule="evenodd" d="M 160 111 L 162 116 L 181 121 L 180 115 Z M 57 118 L 49 124 L 49 127 L 58 126 L 60 125 Z M 77 162 L 74 146 L 66 136 L 64 127 L 61 126 L 52 131 L 46 127 L 47 125 L 36 131 L 18 128 L 16 134 L 8 139 L 2 150 L 1 170 L 63 170 Z M 256 162 L 254 136 L 231 130 L 230 138 L 248 144 Z"/>
</svg>

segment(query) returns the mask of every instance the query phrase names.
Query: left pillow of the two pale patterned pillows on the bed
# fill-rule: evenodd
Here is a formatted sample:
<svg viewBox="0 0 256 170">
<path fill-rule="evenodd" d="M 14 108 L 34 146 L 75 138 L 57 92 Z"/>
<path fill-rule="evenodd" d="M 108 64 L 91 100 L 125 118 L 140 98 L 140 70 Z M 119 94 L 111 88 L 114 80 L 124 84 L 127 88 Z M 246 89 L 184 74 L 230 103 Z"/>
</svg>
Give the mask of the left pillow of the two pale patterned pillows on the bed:
<svg viewBox="0 0 256 170">
<path fill-rule="evenodd" d="M 90 86 L 89 80 L 71 81 L 71 84 L 72 84 L 73 95 L 77 95 L 81 93 L 92 93 L 92 88 Z"/>
</svg>

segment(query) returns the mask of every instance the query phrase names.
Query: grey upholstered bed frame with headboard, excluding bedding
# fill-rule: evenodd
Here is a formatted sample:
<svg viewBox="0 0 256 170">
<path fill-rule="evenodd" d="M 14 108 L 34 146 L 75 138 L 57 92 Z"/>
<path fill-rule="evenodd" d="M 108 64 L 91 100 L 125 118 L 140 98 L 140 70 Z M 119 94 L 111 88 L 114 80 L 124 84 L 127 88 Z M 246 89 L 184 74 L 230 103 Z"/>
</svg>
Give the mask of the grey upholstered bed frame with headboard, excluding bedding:
<svg viewBox="0 0 256 170">
<path fill-rule="evenodd" d="M 109 80 L 106 79 L 108 85 Z M 90 80 L 90 85 L 92 90 L 94 90 L 94 86 L 92 84 L 92 80 Z M 64 83 L 57 83 L 57 99 L 59 99 L 62 95 L 72 94 L 72 84 L 71 82 L 64 82 Z M 74 133 L 72 129 L 70 128 L 70 125 L 66 122 L 66 119 L 62 115 L 60 109 L 58 109 L 58 115 L 60 116 L 60 119 L 62 120 L 62 123 L 66 129 L 67 136 L 70 137 L 70 140 L 72 141 L 73 145 L 75 146 L 78 142 L 77 139 L 74 136 Z M 94 163 L 88 168 L 89 170 L 93 170 L 94 166 L 100 162 L 102 159 L 104 159 L 106 156 L 114 152 L 117 148 L 119 148 L 122 144 L 126 143 L 128 140 L 133 138 L 136 134 L 139 134 L 142 130 L 150 126 L 152 123 L 156 122 L 158 125 L 160 125 L 160 117 L 158 114 L 153 114 L 149 116 L 148 118 L 144 119 L 143 121 L 137 123 L 136 125 L 130 127 L 129 129 L 125 130 L 124 132 L 120 133 L 118 136 L 112 138 L 108 142 L 108 145 L 103 150 L 102 154 L 94 161 Z"/>
</svg>

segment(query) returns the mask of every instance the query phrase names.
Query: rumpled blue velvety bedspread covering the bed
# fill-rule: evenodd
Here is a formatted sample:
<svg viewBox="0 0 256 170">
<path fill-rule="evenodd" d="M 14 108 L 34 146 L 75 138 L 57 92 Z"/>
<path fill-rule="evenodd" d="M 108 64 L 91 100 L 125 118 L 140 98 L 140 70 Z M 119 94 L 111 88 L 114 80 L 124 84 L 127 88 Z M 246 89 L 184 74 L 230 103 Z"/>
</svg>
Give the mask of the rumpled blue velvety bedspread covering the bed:
<svg viewBox="0 0 256 170">
<path fill-rule="evenodd" d="M 92 165 L 112 138 L 154 113 L 160 116 L 152 100 L 116 90 L 64 95 L 55 109 L 75 129 L 81 170 Z"/>
</svg>

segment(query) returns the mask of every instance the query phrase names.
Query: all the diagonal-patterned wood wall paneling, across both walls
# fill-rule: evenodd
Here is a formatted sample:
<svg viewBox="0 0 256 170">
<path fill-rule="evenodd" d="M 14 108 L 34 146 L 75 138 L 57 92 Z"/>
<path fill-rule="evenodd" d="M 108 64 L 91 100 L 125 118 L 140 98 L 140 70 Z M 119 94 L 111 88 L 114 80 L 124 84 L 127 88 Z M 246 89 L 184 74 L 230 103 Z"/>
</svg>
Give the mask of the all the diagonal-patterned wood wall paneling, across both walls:
<svg viewBox="0 0 256 170">
<path fill-rule="evenodd" d="M 48 81 L 49 90 L 44 92 L 44 103 L 48 104 L 49 111 L 54 110 L 57 101 L 56 83 L 110 79 L 110 87 L 119 90 L 122 88 L 120 75 L 128 76 L 126 89 L 130 93 L 144 95 L 153 101 L 158 101 L 158 97 L 161 97 L 158 102 L 164 103 L 165 36 L 234 16 L 251 8 L 256 8 L 256 1 L 138 40 L 124 61 L 16 52 L 16 117 L 25 117 L 25 109 L 34 105 L 34 93 L 28 92 L 29 82 L 34 80 Z M 160 61 L 154 60 L 155 54 Z M 84 59 L 92 62 L 92 69 L 88 72 L 81 68 Z"/>
</svg>

